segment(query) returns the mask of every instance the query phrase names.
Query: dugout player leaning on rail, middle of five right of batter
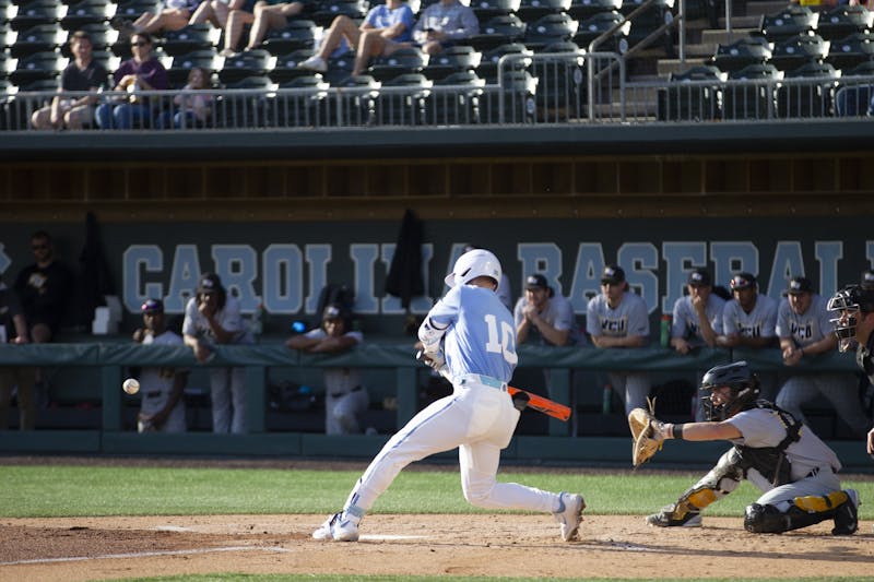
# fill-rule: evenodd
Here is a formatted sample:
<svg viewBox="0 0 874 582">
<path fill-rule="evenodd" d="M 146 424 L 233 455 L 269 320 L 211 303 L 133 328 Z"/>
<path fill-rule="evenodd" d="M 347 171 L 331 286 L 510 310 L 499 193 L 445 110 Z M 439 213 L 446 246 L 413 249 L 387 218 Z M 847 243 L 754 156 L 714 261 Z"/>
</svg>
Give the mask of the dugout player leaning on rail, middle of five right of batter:
<svg viewBox="0 0 874 582">
<path fill-rule="evenodd" d="M 722 334 L 722 310 L 725 307 L 724 299 L 712 293 L 712 280 L 706 269 L 695 269 L 689 273 L 686 290 L 688 295 L 674 302 L 671 324 L 671 345 L 684 355 L 704 345 L 717 345 L 717 336 Z"/>
</svg>

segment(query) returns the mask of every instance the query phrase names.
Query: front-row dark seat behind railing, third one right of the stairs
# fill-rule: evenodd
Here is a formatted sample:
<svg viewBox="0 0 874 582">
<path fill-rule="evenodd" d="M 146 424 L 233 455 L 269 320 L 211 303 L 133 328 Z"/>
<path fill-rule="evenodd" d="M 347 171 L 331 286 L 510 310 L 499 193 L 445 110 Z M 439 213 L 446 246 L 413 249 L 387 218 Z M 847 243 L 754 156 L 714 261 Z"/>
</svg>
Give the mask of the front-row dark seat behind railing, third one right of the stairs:
<svg viewBox="0 0 874 582">
<path fill-rule="evenodd" d="M 787 83 L 791 79 L 816 80 L 816 83 Z M 788 71 L 783 83 L 777 88 L 777 116 L 828 117 L 840 72 L 828 63 L 811 62 Z"/>
</svg>

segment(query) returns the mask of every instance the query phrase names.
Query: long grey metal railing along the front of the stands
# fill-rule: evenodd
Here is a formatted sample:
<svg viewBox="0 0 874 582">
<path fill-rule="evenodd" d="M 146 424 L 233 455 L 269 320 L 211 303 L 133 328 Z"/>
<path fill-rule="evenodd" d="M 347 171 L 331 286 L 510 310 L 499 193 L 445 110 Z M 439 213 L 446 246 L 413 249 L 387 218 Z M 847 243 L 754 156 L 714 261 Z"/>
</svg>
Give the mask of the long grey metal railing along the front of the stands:
<svg viewBox="0 0 874 582">
<path fill-rule="evenodd" d="M 493 82 L 438 85 L 414 75 L 414 84 L 373 82 L 331 87 L 210 90 L 210 115 L 187 116 L 174 104 L 178 92 L 142 92 L 150 115 L 137 131 L 287 130 L 328 128 L 452 127 L 488 124 L 692 123 L 834 118 L 841 87 L 867 92 L 874 76 L 815 76 L 757 80 L 626 82 L 624 62 L 613 52 L 504 56 Z M 724 76 L 724 75 L 723 75 Z M 17 93 L 0 102 L 0 129 L 32 131 L 34 111 L 52 92 Z M 63 94 L 81 97 L 85 93 Z M 101 106 L 140 107 L 127 93 L 105 92 Z M 142 104 L 142 102 L 140 102 Z M 864 116 L 867 107 L 857 107 Z M 176 115 L 180 114 L 180 115 Z M 106 131 L 102 129 L 99 131 Z"/>
</svg>

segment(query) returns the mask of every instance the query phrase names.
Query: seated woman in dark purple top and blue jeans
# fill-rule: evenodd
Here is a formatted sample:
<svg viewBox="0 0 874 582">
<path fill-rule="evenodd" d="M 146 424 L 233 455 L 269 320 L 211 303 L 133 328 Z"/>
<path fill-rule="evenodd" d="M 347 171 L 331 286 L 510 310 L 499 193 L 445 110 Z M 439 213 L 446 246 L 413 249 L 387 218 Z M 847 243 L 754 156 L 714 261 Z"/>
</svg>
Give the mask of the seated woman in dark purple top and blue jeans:
<svg viewBox="0 0 874 582">
<path fill-rule="evenodd" d="M 166 91 L 169 87 L 167 70 L 152 54 L 152 35 L 135 33 L 130 40 L 133 58 L 121 63 L 113 75 L 114 91 L 127 91 L 130 97 L 122 102 L 104 103 L 95 117 L 102 129 L 130 129 L 135 123 L 151 127 L 154 103 L 150 97 L 137 95 L 138 91 Z"/>
</svg>

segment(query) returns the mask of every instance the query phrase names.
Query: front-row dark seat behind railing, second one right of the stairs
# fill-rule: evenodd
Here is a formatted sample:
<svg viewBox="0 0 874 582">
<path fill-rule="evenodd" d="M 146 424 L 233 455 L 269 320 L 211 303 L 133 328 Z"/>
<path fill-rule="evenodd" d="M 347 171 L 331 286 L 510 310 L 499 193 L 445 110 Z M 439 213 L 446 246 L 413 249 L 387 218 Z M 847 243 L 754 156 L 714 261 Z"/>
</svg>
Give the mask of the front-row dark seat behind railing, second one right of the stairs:
<svg viewBox="0 0 874 582">
<path fill-rule="evenodd" d="M 779 81 L 783 72 L 773 64 L 749 64 L 729 75 L 730 81 Z M 770 119 L 776 106 L 775 85 L 757 83 L 729 84 L 722 91 L 722 118 Z"/>
</svg>

